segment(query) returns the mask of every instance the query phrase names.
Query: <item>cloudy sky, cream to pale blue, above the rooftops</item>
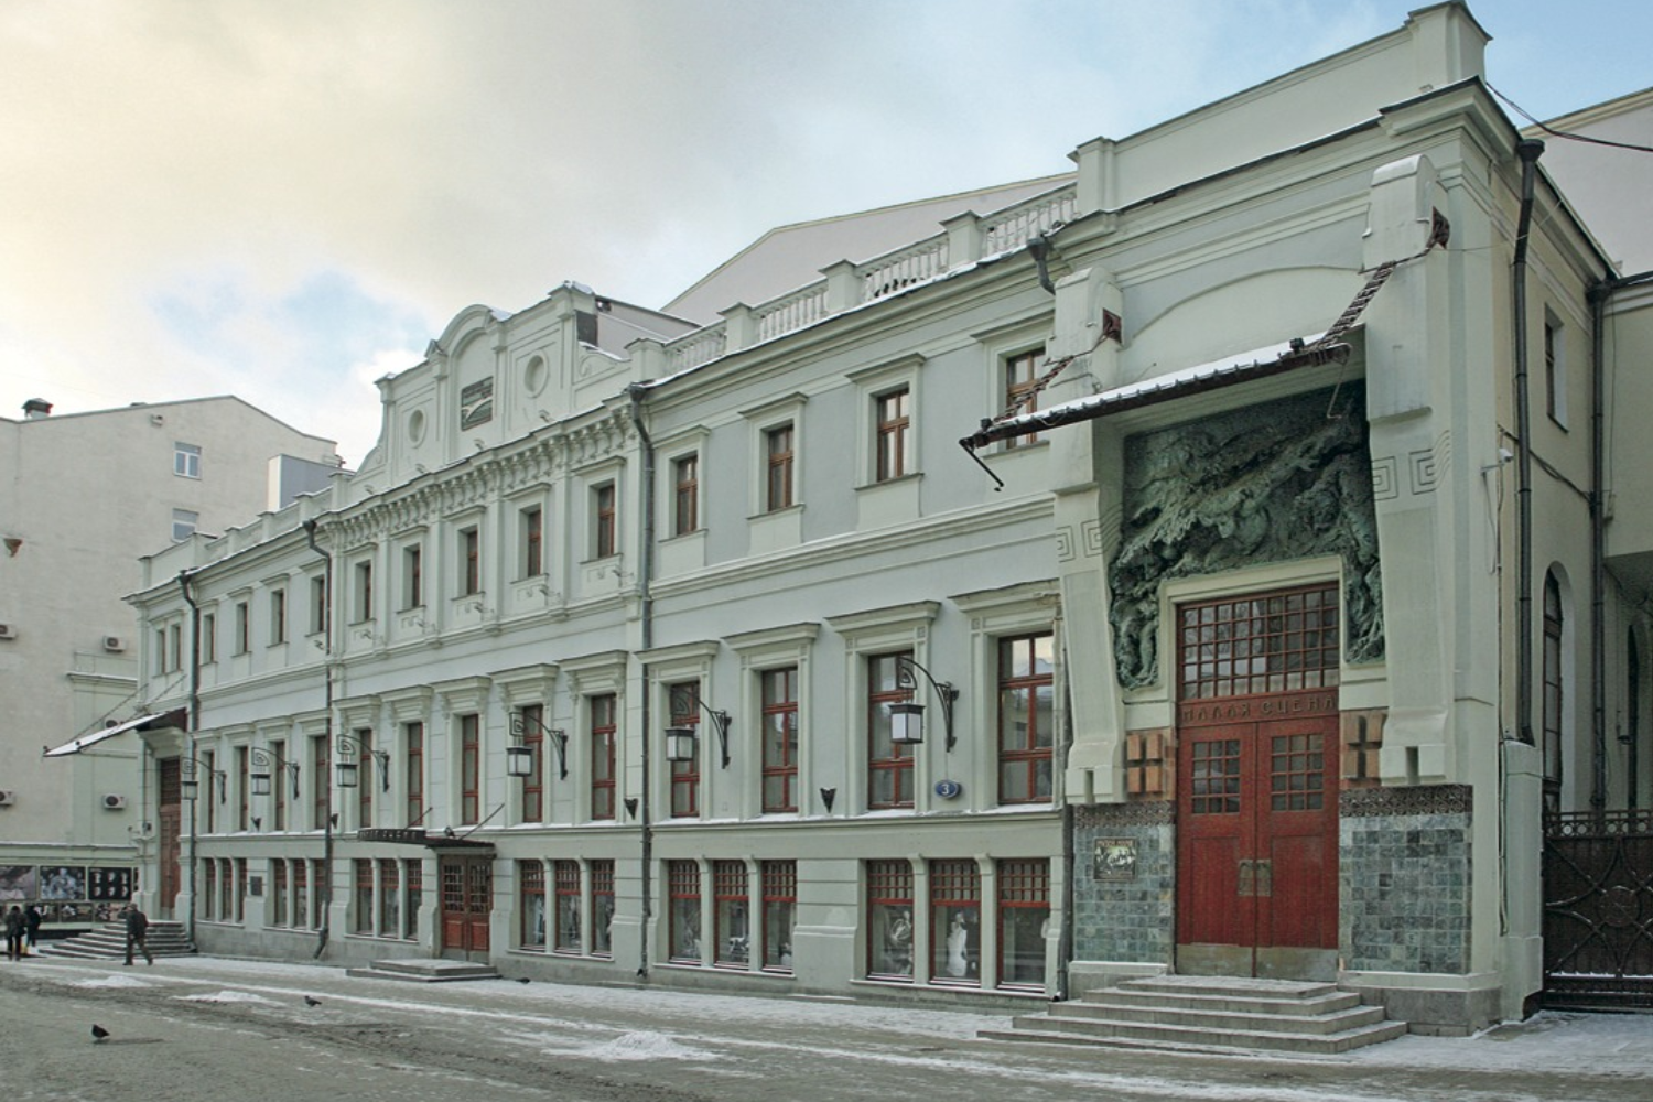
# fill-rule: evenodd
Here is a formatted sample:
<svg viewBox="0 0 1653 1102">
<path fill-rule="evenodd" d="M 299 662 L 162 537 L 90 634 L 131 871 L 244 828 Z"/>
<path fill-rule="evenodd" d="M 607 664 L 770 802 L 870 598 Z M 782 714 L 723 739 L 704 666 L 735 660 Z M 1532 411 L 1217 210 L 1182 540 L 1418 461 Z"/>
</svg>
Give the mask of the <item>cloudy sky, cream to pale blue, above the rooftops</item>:
<svg viewBox="0 0 1653 1102">
<path fill-rule="evenodd" d="M 233 393 L 337 439 L 471 304 L 660 307 L 765 230 L 1071 167 L 1422 0 L 0 0 L 0 416 Z M 1648 0 L 1479 0 L 1537 117 Z M 861 259 L 861 258 L 855 258 Z"/>
</svg>

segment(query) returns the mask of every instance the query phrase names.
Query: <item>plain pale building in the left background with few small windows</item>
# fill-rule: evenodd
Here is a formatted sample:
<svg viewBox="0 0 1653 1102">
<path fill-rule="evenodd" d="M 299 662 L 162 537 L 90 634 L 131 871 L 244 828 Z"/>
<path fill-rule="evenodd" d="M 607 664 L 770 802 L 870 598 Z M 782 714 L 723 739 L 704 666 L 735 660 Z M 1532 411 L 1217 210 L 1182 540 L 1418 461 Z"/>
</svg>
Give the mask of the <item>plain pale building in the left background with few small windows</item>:
<svg viewBox="0 0 1653 1102">
<path fill-rule="evenodd" d="M 185 677 L 180 638 L 141 646 L 136 558 L 324 486 L 306 471 L 334 449 L 230 397 L 0 418 L 0 900 L 73 925 L 131 889 L 155 829 L 141 742 L 114 732 L 149 717 L 141 651 L 145 692 Z"/>
</svg>

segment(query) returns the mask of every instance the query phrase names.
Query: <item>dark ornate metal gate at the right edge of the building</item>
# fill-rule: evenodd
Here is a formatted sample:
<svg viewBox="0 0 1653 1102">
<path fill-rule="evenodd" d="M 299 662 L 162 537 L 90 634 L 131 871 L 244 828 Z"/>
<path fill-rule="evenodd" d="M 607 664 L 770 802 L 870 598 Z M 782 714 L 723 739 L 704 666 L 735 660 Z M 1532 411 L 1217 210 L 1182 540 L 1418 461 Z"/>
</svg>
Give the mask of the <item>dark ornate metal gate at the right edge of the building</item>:
<svg viewBox="0 0 1653 1102">
<path fill-rule="evenodd" d="M 1544 1006 L 1653 1009 L 1653 811 L 1546 816 Z"/>
</svg>

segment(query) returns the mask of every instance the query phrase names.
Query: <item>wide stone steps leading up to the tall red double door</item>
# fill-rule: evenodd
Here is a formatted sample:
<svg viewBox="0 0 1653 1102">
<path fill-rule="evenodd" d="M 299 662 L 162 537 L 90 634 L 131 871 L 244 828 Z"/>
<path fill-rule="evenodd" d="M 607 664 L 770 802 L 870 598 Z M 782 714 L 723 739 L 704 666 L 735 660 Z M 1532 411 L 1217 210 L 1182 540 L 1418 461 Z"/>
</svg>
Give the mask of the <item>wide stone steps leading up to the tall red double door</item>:
<svg viewBox="0 0 1653 1102">
<path fill-rule="evenodd" d="M 1203 1052 L 1332 1056 L 1392 1041 L 1407 1023 L 1387 1021 L 1336 983 L 1238 976 L 1144 976 L 1018 1014 L 992 1041 L 1043 1041 Z"/>
</svg>

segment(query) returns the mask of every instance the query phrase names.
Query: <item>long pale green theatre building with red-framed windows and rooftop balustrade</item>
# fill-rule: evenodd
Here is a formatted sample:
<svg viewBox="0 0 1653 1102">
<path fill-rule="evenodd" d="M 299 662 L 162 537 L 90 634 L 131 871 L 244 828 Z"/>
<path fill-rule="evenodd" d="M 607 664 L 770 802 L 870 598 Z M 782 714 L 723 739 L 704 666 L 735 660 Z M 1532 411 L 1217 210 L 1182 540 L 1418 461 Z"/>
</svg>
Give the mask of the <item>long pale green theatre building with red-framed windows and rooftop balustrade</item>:
<svg viewBox="0 0 1653 1102">
<path fill-rule="evenodd" d="M 716 325 L 461 312 L 355 477 L 145 560 L 198 671 L 145 696 L 192 717 L 144 735 L 193 793 L 157 909 L 339 962 L 1522 1014 L 1546 813 L 1646 795 L 1597 717 L 1646 709 L 1602 549 L 1653 542 L 1593 456 L 1603 327 L 1648 334 L 1484 41 L 1423 8 Z"/>
</svg>

